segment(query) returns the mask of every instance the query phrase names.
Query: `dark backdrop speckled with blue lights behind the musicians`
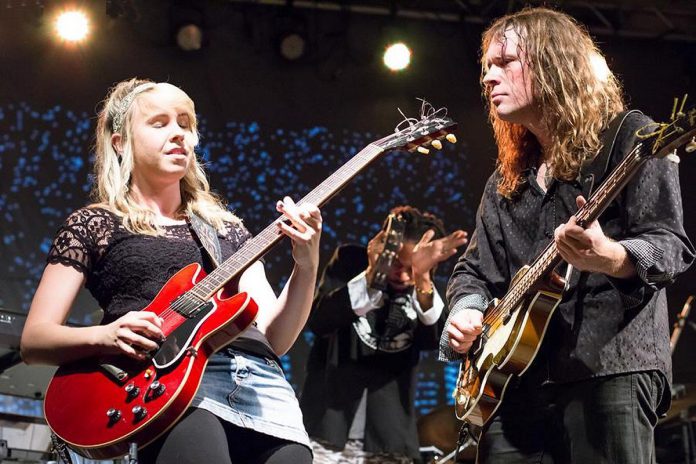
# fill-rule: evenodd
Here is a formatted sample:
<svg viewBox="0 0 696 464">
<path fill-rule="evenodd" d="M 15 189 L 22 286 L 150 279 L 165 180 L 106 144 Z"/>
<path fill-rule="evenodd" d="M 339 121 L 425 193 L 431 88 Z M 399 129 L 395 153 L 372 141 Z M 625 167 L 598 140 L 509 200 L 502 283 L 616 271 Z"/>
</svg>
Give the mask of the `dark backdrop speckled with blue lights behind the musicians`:
<svg viewBox="0 0 696 464">
<path fill-rule="evenodd" d="M 88 202 L 94 122 L 91 115 L 63 106 L 0 106 L 0 276 L 5 283 L 0 286 L 0 307 L 28 310 L 55 230 L 72 210 Z M 298 199 L 384 135 L 319 126 L 271 128 L 253 121 L 229 121 L 212 129 L 204 116 L 199 130 L 197 151 L 211 185 L 252 233 L 275 219 L 278 198 L 290 194 Z M 397 204 L 410 203 L 441 217 L 452 209 L 472 214 L 461 193 L 466 168 L 462 157 L 454 148 L 427 157 L 393 152 L 368 167 L 323 209 L 323 261 L 338 243 L 366 244 Z M 280 289 L 290 270 L 290 248 L 277 247 L 265 261 L 269 279 Z M 440 287 L 448 272 L 445 266 L 439 272 Z M 73 321 L 94 323 L 96 303 L 81 301 Z M 311 338 L 306 333 L 298 345 L 307 347 Z M 301 348 L 283 358 L 295 388 L 301 386 L 304 371 L 297 351 Z M 450 373 L 434 361 L 434 354 L 425 357 L 423 366 L 417 406 L 426 412 L 450 400 L 456 366 Z"/>
</svg>

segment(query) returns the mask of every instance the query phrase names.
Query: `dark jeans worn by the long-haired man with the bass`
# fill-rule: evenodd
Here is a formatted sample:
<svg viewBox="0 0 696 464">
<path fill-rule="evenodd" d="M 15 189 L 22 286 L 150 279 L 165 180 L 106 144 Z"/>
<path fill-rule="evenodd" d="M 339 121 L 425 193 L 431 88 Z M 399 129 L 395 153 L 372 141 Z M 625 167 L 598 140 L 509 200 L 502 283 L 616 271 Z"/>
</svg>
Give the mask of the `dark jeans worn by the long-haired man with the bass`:
<svg viewBox="0 0 696 464">
<path fill-rule="evenodd" d="M 481 439 L 478 462 L 654 463 L 653 431 L 667 393 L 657 371 L 514 386 Z"/>
</svg>

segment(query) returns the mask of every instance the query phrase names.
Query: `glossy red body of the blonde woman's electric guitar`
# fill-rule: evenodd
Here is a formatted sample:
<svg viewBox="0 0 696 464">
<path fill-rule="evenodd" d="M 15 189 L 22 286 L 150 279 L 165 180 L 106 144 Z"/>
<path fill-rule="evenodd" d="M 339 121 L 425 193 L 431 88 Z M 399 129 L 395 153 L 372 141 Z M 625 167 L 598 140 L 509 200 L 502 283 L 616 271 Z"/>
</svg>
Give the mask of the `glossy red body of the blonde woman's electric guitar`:
<svg viewBox="0 0 696 464">
<path fill-rule="evenodd" d="M 186 411 L 209 357 L 252 324 L 258 312 L 246 293 L 225 298 L 224 289 L 192 302 L 186 292 L 203 277 L 200 265 L 186 266 L 143 308 L 164 319 L 166 341 L 152 359 L 82 360 L 58 369 L 46 391 L 44 413 L 71 448 L 92 459 L 123 456 L 129 443 L 139 448 L 150 443 Z"/>
</svg>

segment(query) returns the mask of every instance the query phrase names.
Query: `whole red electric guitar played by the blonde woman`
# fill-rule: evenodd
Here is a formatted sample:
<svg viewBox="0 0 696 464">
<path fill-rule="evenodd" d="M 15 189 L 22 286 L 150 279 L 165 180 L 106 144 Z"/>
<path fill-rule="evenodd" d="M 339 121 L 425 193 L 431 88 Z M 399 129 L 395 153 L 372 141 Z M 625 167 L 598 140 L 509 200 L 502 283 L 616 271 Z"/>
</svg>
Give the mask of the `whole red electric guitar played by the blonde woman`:
<svg viewBox="0 0 696 464">
<path fill-rule="evenodd" d="M 441 147 L 454 142 L 455 123 L 446 112 L 406 120 L 407 127 L 371 143 L 300 202 L 323 205 L 380 154 Z M 398 129 L 398 127 L 397 127 Z M 85 359 L 61 366 L 44 400 L 53 432 L 80 454 L 109 459 L 142 447 L 168 430 L 191 404 L 208 358 L 256 317 L 258 307 L 246 293 L 223 297 L 223 286 L 239 276 L 282 238 L 276 222 L 249 239 L 217 269 L 206 275 L 194 263 L 177 272 L 144 311 L 164 319 L 166 336 L 149 361 L 126 356 Z"/>
</svg>

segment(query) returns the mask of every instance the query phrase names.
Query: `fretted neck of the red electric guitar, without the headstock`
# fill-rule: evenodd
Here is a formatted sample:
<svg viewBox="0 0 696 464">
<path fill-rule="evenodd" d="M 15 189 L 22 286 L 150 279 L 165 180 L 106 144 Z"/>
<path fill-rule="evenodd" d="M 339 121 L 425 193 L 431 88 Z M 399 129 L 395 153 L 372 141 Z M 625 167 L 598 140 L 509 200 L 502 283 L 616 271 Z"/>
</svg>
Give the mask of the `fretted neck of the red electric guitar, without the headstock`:
<svg viewBox="0 0 696 464">
<path fill-rule="evenodd" d="M 375 144 L 368 145 L 314 190 L 304 196 L 297 204 L 312 203 L 317 206 L 324 205 L 383 152 L 384 149 Z M 247 240 L 236 253 L 198 282 L 190 291 L 201 300 L 207 300 L 213 296 L 233 277 L 239 275 L 252 263 L 261 258 L 284 237 L 284 235 L 279 234 L 278 226 L 276 225 L 276 223 L 283 220 L 284 216 L 279 216 L 258 235 Z"/>
</svg>

